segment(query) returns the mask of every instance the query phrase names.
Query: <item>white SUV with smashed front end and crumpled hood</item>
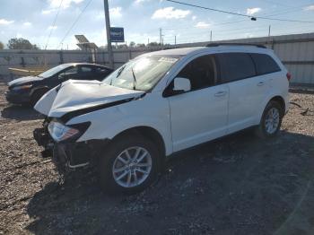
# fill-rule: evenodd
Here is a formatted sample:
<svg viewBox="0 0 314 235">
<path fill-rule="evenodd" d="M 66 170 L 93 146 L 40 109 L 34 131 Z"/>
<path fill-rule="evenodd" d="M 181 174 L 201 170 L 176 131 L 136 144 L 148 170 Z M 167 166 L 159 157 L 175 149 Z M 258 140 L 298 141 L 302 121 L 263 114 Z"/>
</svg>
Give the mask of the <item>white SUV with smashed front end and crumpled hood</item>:
<svg viewBox="0 0 314 235">
<path fill-rule="evenodd" d="M 173 152 L 250 126 L 274 136 L 287 112 L 290 74 L 271 49 L 208 45 L 144 54 L 102 82 L 68 81 L 35 109 L 34 136 L 59 170 L 99 168 L 122 192 L 152 183 Z"/>
</svg>

